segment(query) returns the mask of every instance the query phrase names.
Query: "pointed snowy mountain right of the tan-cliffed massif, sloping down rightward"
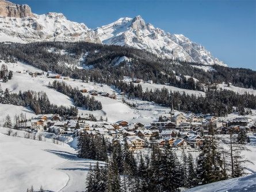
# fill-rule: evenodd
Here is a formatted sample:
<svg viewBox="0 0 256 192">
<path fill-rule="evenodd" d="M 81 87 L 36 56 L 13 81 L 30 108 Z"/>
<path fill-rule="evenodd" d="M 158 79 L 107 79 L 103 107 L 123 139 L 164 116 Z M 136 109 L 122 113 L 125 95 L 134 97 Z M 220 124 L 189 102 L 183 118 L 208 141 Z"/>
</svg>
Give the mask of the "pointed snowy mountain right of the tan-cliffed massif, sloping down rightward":
<svg viewBox="0 0 256 192">
<path fill-rule="evenodd" d="M 95 29 L 104 44 L 125 45 L 146 49 L 159 56 L 201 64 L 225 65 L 204 47 L 190 41 L 183 34 L 170 34 L 146 24 L 142 17 L 120 18 L 109 25 Z"/>
</svg>

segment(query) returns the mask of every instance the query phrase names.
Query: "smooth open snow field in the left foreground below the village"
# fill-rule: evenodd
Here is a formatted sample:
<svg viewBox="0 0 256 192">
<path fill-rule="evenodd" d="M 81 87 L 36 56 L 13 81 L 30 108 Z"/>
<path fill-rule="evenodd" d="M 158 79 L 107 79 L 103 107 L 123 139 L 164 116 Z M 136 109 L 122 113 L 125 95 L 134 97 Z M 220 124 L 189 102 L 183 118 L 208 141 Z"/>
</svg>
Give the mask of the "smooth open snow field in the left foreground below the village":
<svg viewBox="0 0 256 192">
<path fill-rule="evenodd" d="M 67 144 L 7 136 L 0 128 L 0 191 L 84 191 L 90 159 L 79 159 Z M 19 133 L 21 134 L 21 133 Z"/>
</svg>

